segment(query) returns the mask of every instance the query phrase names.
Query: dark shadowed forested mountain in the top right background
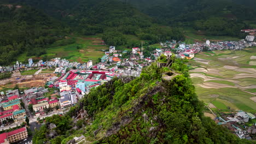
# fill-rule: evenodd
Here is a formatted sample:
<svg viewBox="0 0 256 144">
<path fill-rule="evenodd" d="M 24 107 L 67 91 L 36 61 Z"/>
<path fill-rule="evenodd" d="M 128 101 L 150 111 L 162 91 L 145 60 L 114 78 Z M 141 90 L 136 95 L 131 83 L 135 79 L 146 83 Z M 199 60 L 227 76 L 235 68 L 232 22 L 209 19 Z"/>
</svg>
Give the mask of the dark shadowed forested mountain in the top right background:
<svg viewBox="0 0 256 144">
<path fill-rule="evenodd" d="M 193 27 L 208 35 L 237 36 L 255 21 L 256 1 L 246 0 L 122 0 L 135 5 L 149 16 L 166 25 Z"/>
</svg>

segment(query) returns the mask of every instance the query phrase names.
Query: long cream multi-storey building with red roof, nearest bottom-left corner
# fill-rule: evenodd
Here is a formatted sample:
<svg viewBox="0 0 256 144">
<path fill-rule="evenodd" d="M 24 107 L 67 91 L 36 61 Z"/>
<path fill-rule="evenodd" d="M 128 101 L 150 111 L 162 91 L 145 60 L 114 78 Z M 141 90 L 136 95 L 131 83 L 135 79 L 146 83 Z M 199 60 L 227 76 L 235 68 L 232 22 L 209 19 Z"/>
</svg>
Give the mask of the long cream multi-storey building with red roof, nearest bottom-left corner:
<svg viewBox="0 0 256 144">
<path fill-rule="evenodd" d="M 7 134 L 8 141 L 10 143 L 13 143 L 13 142 L 27 138 L 27 128 L 23 127 L 20 129 L 10 131 L 9 133 L 6 133 L 6 134 Z"/>
</svg>

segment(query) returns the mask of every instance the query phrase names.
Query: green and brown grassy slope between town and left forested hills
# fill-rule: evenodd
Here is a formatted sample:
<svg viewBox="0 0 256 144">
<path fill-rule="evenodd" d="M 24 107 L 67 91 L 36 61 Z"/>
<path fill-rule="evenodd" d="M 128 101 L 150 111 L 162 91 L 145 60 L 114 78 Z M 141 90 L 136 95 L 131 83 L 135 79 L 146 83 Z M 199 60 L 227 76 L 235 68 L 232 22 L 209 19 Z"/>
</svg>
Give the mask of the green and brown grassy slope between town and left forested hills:
<svg viewBox="0 0 256 144">
<path fill-rule="evenodd" d="M 126 35 L 131 38 L 133 35 Z M 137 39 L 136 36 L 132 39 Z M 98 58 L 101 58 L 104 55 L 104 52 L 101 50 L 108 50 L 108 46 L 101 45 L 101 39 L 99 35 L 90 35 L 90 36 L 80 36 L 80 35 L 69 35 L 67 40 L 58 40 L 48 49 L 46 49 L 46 54 L 39 56 L 50 57 L 61 57 L 66 58 L 69 61 L 76 61 L 80 63 L 87 62 L 92 60 L 94 62 L 98 61 Z M 88 58 L 89 57 L 89 58 Z M 26 53 L 23 53 L 18 57 L 18 61 L 24 62 L 28 58 L 36 58 L 36 56 L 27 57 Z"/>
</svg>

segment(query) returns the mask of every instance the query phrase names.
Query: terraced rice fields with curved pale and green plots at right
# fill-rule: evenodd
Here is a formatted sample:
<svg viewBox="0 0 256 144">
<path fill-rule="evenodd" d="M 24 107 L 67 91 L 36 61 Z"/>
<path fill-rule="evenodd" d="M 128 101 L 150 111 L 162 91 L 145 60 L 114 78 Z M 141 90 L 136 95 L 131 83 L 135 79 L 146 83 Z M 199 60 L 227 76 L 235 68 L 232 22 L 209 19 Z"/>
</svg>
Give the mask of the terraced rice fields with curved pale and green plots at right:
<svg viewBox="0 0 256 144">
<path fill-rule="evenodd" d="M 256 47 L 196 54 L 190 77 L 200 100 L 217 109 L 256 112 Z"/>
</svg>

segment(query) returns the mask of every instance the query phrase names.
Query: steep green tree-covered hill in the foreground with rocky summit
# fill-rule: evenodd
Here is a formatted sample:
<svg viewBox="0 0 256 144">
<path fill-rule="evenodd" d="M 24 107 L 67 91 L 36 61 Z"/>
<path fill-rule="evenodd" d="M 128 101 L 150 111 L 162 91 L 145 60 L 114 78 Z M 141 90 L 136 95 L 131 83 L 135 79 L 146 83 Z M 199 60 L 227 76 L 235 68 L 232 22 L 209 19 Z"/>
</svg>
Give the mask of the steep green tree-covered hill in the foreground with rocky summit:
<svg viewBox="0 0 256 144">
<path fill-rule="evenodd" d="M 172 60 L 175 72 L 153 63 L 136 79 L 93 89 L 66 115 L 46 118 L 33 143 L 70 143 L 80 135 L 85 143 L 253 143 L 203 116 L 187 65 Z M 170 73 L 176 75 L 165 79 Z"/>
</svg>

